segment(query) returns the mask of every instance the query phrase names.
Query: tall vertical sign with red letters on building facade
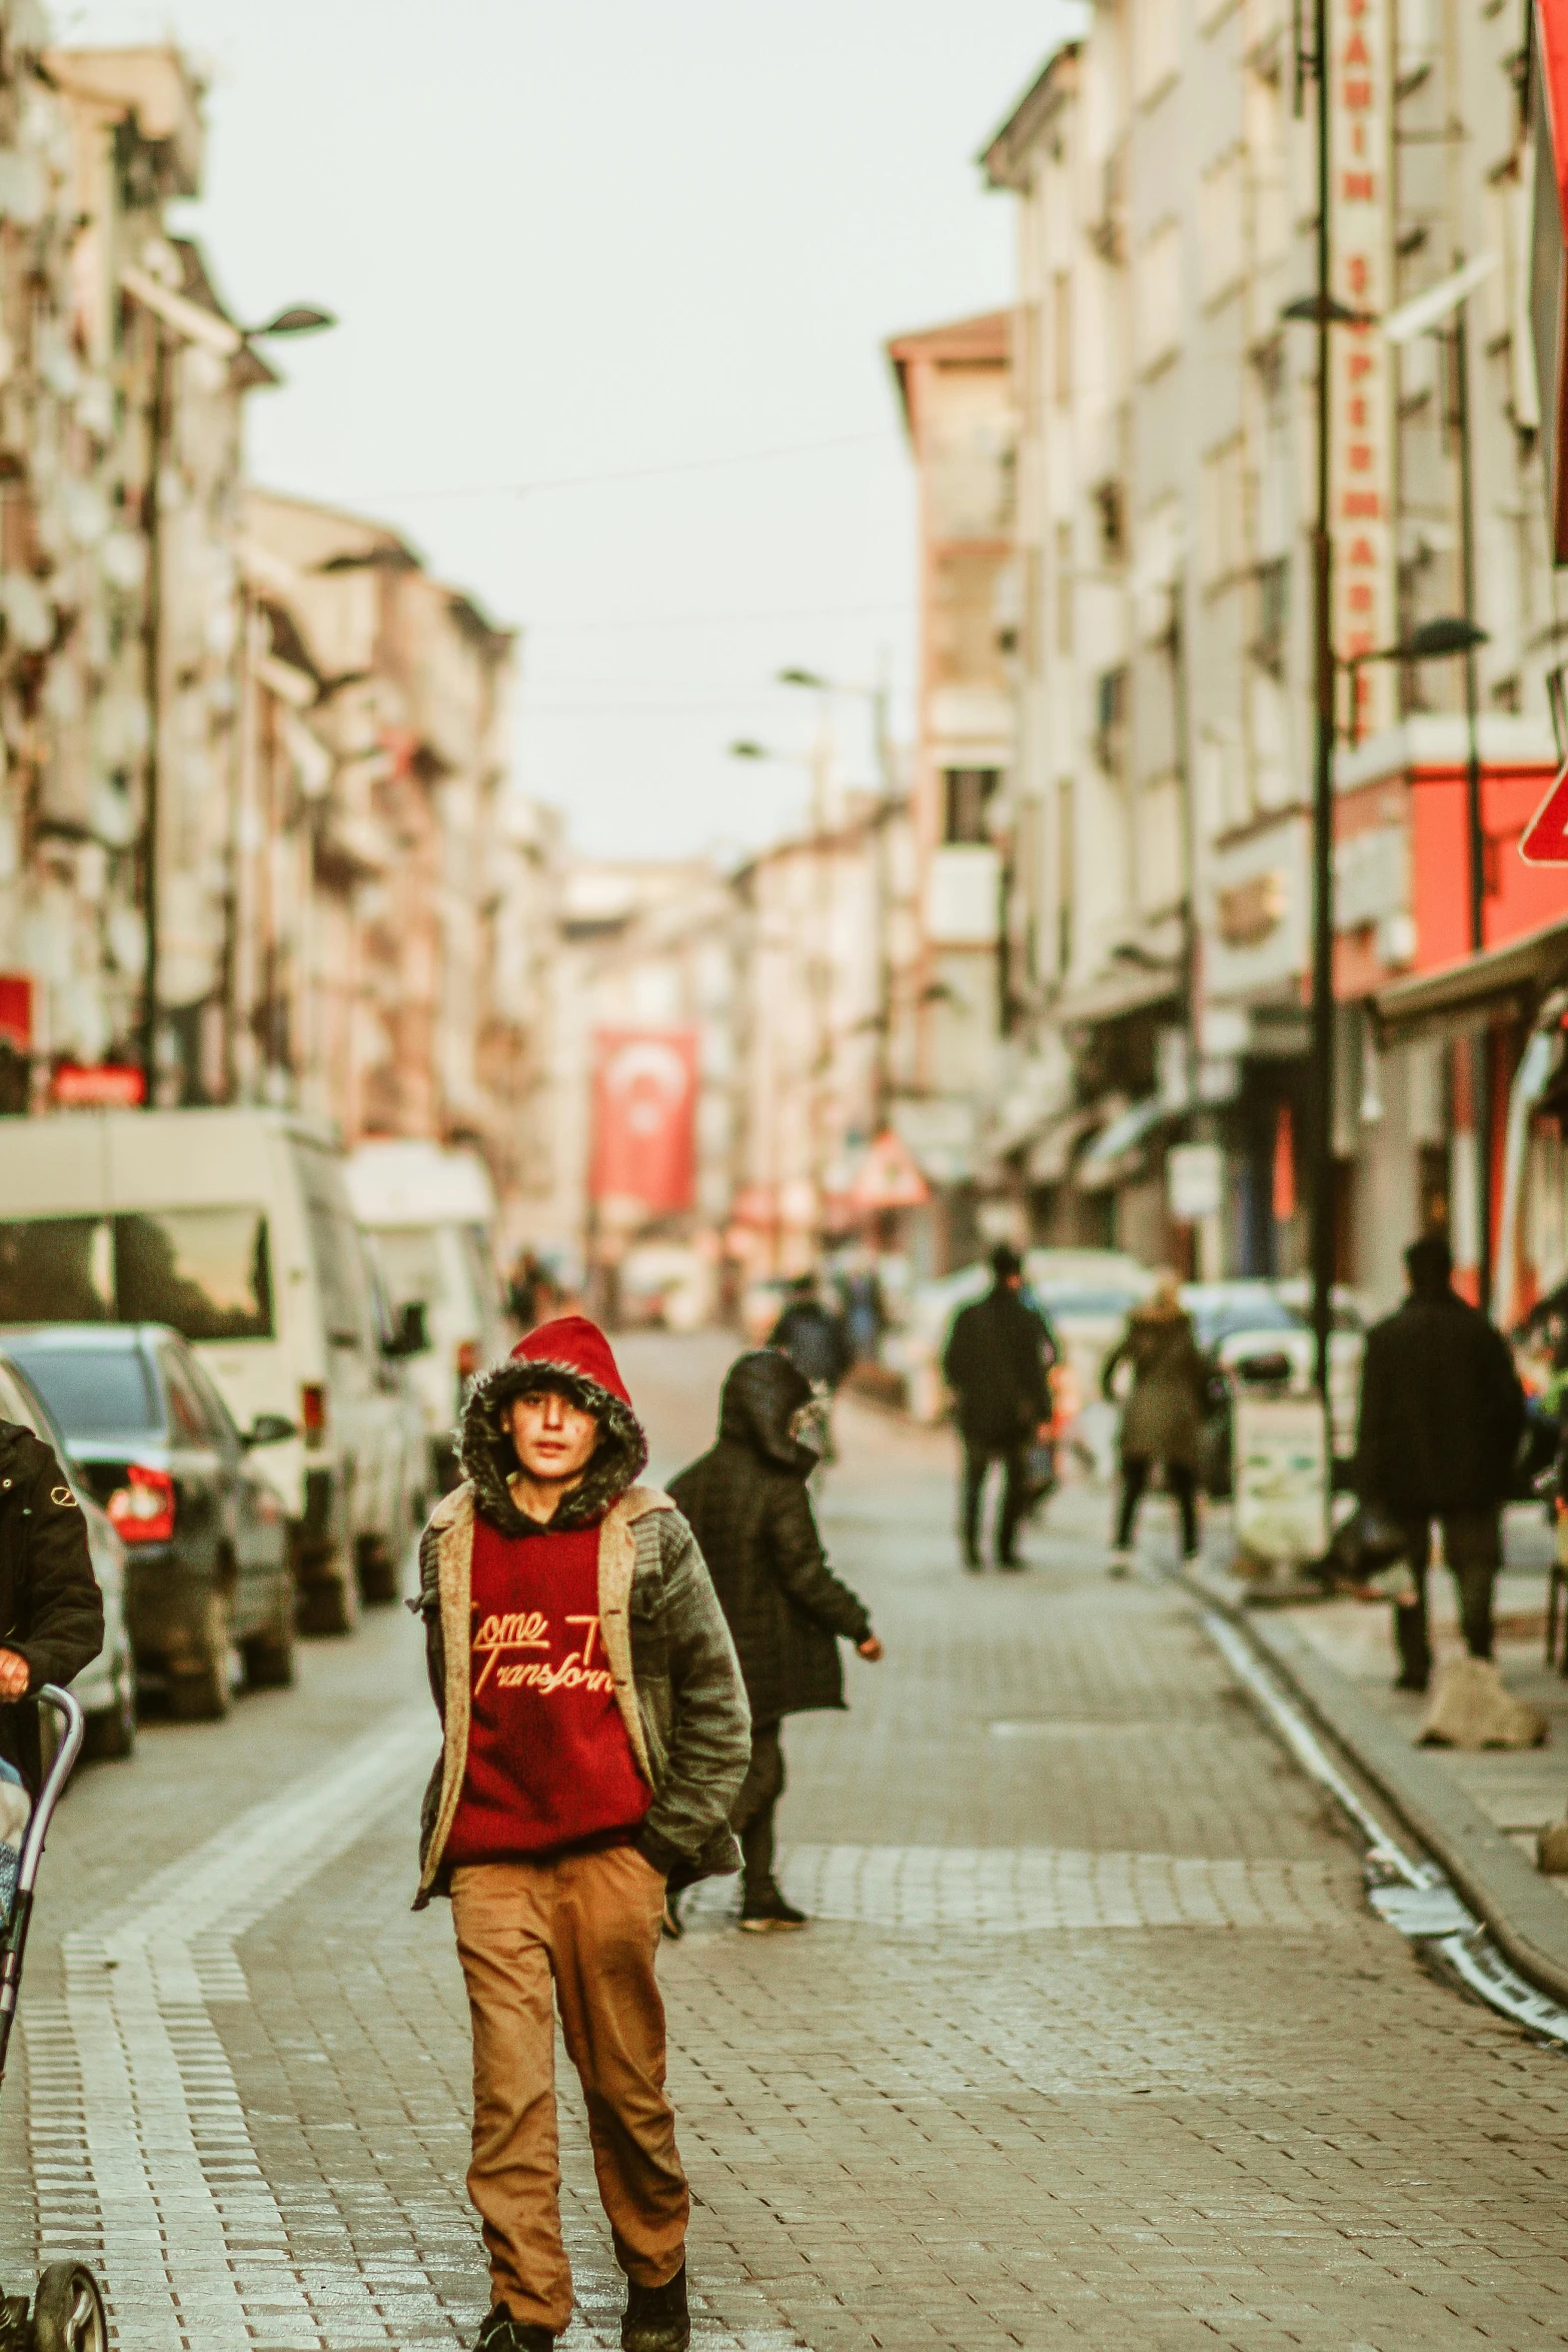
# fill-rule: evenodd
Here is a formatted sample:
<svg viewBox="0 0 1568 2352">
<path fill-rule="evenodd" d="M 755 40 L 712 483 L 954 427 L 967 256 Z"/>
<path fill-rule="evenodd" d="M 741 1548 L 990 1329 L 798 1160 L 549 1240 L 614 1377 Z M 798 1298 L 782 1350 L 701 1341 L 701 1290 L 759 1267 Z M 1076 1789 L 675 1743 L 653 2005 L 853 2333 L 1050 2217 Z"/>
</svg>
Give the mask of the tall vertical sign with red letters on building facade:
<svg viewBox="0 0 1568 2352">
<path fill-rule="evenodd" d="M 1394 579 L 1394 353 L 1375 320 L 1394 301 L 1392 0 L 1331 0 L 1328 235 L 1333 292 L 1363 327 L 1333 327 L 1331 494 L 1333 649 L 1340 661 L 1396 637 Z M 1394 724 L 1394 673 L 1352 673 L 1359 734 Z"/>
</svg>

